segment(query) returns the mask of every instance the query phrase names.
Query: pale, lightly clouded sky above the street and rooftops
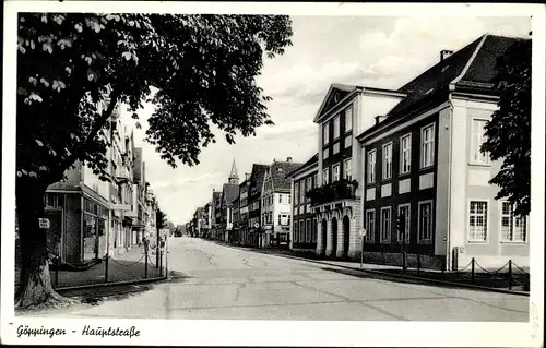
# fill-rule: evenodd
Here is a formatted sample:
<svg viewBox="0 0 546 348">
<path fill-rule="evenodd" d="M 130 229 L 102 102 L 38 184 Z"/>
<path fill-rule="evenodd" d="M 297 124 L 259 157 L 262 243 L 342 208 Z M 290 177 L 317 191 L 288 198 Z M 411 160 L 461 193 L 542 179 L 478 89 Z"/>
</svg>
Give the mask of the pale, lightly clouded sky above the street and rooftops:
<svg viewBox="0 0 546 348">
<path fill-rule="evenodd" d="M 222 190 L 235 160 L 240 181 L 252 164 L 292 157 L 307 161 L 316 152 L 318 125 L 312 122 L 331 83 L 397 89 L 440 57 L 480 35 L 529 37 L 529 17 L 378 17 L 292 16 L 293 47 L 266 60 L 258 84 L 273 97 L 268 112 L 275 125 L 263 125 L 256 137 L 236 137 L 229 145 L 221 132 L 203 148 L 200 164 L 168 166 L 145 142 L 145 119 L 153 105 L 139 112 L 142 129 L 134 130 L 135 146 L 143 148 L 146 180 L 162 211 L 175 225 L 188 223 L 198 206 Z M 122 118 L 131 123 L 122 108 Z"/>
</svg>

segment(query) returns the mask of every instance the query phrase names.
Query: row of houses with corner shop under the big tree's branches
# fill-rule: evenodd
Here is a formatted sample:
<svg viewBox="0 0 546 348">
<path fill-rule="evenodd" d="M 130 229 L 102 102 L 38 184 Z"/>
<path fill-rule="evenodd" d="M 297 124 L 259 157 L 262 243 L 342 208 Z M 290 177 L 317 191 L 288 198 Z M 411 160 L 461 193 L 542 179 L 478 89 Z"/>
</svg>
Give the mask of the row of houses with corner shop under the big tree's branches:
<svg viewBox="0 0 546 348">
<path fill-rule="evenodd" d="M 45 195 L 48 248 L 66 264 L 116 256 L 156 235 L 158 202 L 146 181 L 142 148 L 134 146 L 133 130 L 121 121 L 119 106 L 100 136 L 109 144 L 110 181 L 99 180 L 86 164 L 76 163 Z"/>
</svg>

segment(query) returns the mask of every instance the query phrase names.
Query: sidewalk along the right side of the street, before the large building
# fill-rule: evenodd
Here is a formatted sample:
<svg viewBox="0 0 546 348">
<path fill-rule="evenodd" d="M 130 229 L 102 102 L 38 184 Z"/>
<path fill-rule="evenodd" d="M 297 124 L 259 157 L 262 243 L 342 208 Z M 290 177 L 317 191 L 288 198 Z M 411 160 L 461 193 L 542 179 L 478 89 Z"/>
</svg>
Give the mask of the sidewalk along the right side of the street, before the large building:
<svg viewBox="0 0 546 348">
<path fill-rule="evenodd" d="M 229 245 L 225 244 L 224 245 Z M 229 245 L 232 248 L 240 248 L 237 245 Z M 241 248 L 242 249 L 242 248 Z M 250 248 L 244 248 L 249 250 Z M 360 267 L 359 261 L 337 261 L 319 256 L 314 253 L 299 253 L 292 250 L 275 250 L 275 249 L 250 249 L 256 252 L 264 254 L 274 254 L 283 257 L 290 257 L 297 260 L 306 260 L 325 266 L 341 267 L 346 271 L 334 269 L 334 272 L 347 273 L 351 275 L 361 275 L 363 273 L 372 273 L 379 277 L 389 279 L 399 279 L 402 281 L 416 281 L 416 283 L 431 283 L 441 286 L 461 286 L 472 287 L 483 290 L 498 290 L 508 292 L 518 292 L 529 296 L 529 273 L 513 273 L 512 279 L 509 278 L 508 273 L 494 273 L 494 272 L 476 272 L 474 279 L 471 272 L 442 272 L 441 269 L 403 269 L 402 266 L 396 265 L 382 265 L 364 263 Z M 512 285 L 510 289 L 510 283 Z"/>
</svg>

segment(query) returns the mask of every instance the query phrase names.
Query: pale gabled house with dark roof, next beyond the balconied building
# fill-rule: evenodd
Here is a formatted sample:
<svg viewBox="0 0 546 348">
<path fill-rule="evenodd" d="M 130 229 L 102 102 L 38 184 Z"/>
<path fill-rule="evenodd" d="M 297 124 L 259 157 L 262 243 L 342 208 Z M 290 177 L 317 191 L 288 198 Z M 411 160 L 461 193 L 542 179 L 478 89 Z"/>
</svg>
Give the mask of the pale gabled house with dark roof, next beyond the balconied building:
<svg viewBox="0 0 546 348">
<path fill-rule="evenodd" d="M 286 176 L 300 166 L 288 157 L 286 161 L 273 160 L 265 171 L 261 190 L 260 248 L 289 248 L 292 193 L 290 180 Z"/>
</svg>

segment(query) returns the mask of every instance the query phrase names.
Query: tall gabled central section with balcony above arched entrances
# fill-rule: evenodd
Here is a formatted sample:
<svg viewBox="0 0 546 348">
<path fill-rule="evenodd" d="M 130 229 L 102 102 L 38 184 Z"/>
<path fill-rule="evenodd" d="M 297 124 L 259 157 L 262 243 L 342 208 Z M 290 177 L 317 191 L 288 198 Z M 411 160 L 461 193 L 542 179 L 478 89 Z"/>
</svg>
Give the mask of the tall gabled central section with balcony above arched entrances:
<svg viewBox="0 0 546 348">
<path fill-rule="evenodd" d="M 331 85 L 314 122 L 319 127 L 319 188 L 307 193 L 319 231 L 317 252 L 330 257 L 359 254 L 361 190 L 360 146 L 356 134 L 376 115 L 388 112 L 405 94 L 361 86 Z M 301 188 L 299 188 L 301 192 Z M 305 190 L 304 190 L 305 191 Z M 312 230 L 312 227 L 311 227 Z"/>
</svg>

